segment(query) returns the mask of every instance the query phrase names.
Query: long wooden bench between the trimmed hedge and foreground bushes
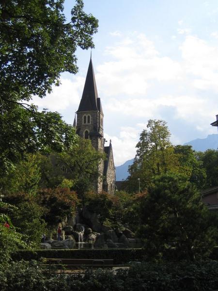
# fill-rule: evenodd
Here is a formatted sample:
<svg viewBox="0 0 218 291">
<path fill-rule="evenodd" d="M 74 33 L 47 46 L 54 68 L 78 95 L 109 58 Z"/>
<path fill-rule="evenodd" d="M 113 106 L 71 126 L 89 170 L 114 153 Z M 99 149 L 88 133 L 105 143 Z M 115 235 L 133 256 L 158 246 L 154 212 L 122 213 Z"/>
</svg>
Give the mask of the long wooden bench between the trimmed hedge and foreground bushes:
<svg viewBox="0 0 218 291">
<path fill-rule="evenodd" d="M 112 268 L 113 259 L 40 259 L 42 266 L 54 266 L 58 270 L 74 270 L 87 268 Z"/>
</svg>

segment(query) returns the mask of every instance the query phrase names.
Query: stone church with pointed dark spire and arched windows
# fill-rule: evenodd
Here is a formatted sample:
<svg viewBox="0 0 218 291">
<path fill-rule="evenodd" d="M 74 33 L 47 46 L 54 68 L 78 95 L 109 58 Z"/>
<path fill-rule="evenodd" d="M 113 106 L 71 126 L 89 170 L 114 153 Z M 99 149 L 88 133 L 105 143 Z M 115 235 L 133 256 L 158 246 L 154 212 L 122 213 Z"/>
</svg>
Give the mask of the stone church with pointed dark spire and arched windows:
<svg viewBox="0 0 218 291">
<path fill-rule="evenodd" d="M 99 178 L 94 183 L 94 188 L 97 192 L 103 190 L 113 195 L 116 180 L 113 150 L 111 141 L 109 146 L 105 146 L 104 114 L 101 99 L 97 93 L 92 58 L 90 59 L 82 98 L 75 115 L 74 126 L 80 137 L 90 139 L 96 150 L 105 152 L 107 159 L 99 163 Z"/>
</svg>

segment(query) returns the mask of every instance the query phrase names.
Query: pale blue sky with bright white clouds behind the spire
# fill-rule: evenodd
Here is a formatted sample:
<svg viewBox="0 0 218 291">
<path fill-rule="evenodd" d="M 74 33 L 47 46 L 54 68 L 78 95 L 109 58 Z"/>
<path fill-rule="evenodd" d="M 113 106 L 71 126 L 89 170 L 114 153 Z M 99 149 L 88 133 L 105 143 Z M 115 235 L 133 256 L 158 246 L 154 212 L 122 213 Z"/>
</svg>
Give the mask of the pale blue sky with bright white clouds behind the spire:
<svg viewBox="0 0 218 291">
<path fill-rule="evenodd" d="M 68 20 L 74 4 L 65 0 Z M 149 119 L 167 122 L 174 145 L 217 133 L 210 123 L 218 114 L 218 0 L 84 0 L 84 10 L 99 20 L 92 60 L 116 166 L 135 157 Z M 77 57 L 77 75 L 63 73 L 50 95 L 33 98 L 69 124 L 90 50 Z"/>
</svg>

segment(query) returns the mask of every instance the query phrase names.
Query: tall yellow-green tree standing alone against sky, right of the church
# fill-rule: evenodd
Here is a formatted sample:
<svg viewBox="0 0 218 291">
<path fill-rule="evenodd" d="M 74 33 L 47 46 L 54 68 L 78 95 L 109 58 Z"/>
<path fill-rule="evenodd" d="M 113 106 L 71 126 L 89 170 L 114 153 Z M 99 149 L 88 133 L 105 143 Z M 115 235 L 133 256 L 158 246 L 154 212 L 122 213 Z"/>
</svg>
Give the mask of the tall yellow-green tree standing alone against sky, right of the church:
<svg viewBox="0 0 218 291">
<path fill-rule="evenodd" d="M 163 120 L 150 119 L 140 134 L 137 153 L 129 168 L 128 189 L 137 191 L 138 178 L 143 190 L 152 177 L 168 171 L 179 171 L 179 162 L 170 142 L 170 131 Z"/>
</svg>

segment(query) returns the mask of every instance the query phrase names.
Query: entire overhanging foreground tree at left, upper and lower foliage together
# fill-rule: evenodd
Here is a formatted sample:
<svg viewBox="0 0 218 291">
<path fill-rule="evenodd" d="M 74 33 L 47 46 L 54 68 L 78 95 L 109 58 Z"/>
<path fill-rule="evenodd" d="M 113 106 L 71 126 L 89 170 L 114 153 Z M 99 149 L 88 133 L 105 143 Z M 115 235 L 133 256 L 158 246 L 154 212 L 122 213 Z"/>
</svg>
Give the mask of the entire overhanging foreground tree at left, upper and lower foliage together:
<svg viewBox="0 0 218 291">
<path fill-rule="evenodd" d="M 0 170 L 25 152 L 60 151 L 72 127 L 58 113 L 39 113 L 27 101 L 45 97 L 64 71 L 78 71 L 76 49 L 93 48 L 98 21 L 77 0 L 66 23 L 63 0 L 0 2 Z M 24 103 L 26 102 L 26 103 Z M 0 175 L 2 174 L 0 173 Z"/>
</svg>

